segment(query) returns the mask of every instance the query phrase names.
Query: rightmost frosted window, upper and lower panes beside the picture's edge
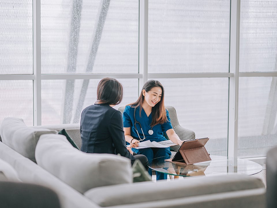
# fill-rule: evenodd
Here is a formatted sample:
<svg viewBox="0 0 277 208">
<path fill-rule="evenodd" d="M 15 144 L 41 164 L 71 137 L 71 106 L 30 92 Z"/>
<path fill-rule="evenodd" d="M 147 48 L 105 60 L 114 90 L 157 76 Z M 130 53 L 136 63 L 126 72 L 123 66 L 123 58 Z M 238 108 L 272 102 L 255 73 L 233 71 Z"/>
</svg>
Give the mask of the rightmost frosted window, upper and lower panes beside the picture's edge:
<svg viewBox="0 0 277 208">
<path fill-rule="evenodd" d="M 277 71 L 277 2 L 242 0 L 240 14 L 238 156 L 260 157 L 277 145 L 277 79 L 266 73 Z"/>
</svg>

